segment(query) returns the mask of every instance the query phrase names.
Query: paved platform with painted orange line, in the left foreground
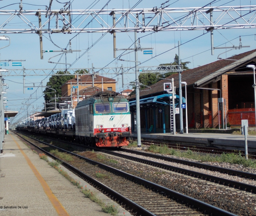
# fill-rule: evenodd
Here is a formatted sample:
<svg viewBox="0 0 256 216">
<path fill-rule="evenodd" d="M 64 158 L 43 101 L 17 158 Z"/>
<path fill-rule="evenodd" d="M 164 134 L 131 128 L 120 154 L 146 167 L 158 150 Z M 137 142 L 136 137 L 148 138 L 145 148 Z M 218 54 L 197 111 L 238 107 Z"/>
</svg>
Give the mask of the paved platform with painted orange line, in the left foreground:
<svg viewBox="0 0 256 216">
<path fill-rule="evenodd" d="M 109 215 L 41 160 L 32 147 L 25 145 L 13 132 L 5 136 L 3 149 L 4 152 L 0 154 L 0 215 Z M 87 182 L 63 169 L 81 185 L 94 191 L 105 203 L 113 203 Z M 119 212 L 131 215 L 121 207 Z"/>
</svg>

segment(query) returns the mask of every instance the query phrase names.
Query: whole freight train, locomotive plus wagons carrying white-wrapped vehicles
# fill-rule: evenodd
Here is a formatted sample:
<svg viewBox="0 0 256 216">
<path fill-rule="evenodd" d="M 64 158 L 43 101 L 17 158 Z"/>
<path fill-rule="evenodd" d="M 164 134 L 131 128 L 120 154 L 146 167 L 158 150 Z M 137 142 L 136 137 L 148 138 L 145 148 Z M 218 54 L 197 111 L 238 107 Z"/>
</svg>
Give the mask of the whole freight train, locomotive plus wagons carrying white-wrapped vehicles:
<svg viewBox="0 0 256 216">
<path fill-rule="evenodd" d="M 131 140 L 129 102 L 116 92 L 99 92 L 80 101 L 75 110 L 18 123 L 17 130 L 47 134 L 98 147 L 121 147 Z"/>
</svg>

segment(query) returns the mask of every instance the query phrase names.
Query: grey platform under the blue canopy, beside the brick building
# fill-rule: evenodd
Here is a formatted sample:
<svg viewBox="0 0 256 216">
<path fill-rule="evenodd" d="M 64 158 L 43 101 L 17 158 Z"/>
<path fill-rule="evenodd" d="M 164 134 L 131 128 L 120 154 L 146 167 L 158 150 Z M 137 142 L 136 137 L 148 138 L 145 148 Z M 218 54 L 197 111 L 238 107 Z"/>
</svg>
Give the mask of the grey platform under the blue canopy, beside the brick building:
<svg viewBox="0 0 256 216">
<path fill-rule="evenodd" d="M 137 138 L 137 133 L 132 132 L 132 137 Z M 244 150 L 244 135 L 222 133 L 141 133 L 141 138 L 152 139 L 159 142 L 174 142 L 188 145 L 202 145 L 224 149 Z M 248 151 L 256 151 L 256 135 L 247 136 Z"/>
</svg>

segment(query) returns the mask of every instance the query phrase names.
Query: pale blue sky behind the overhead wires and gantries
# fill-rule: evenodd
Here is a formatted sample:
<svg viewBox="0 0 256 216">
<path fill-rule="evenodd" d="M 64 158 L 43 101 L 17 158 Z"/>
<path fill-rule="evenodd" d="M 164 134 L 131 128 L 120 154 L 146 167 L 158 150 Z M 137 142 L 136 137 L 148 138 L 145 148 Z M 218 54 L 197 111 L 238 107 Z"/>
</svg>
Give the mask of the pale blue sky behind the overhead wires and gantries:
<svg viewBox="0 0 256 216">
<path fill-rule="evenodd" d="M 3 9 L 5 10 L 19 10 L 19 3 L 20 1 L 15 0 L 2 0 L 0 1 L 0 8 L 4 7 L 8 4 L 14 4 L 10 5 L 8 7 L 5 7 Z M 90 1 L 82 1 L 82 0 L 74 0 L 72 2 L 72 9 L 86 9 L 88 5 L 90 5 L 92 0 Z M 107 0 L 100 0 L 98 3 L 93 6 L 93 9 L 101 9 L 105 4 Z M 153 8 L 155 6 L 160 7 L 161 4 L 165 2 L 158 1 L 158 0 L 143 0 L 136 8 Z M 173 3 L 175 1 L 170 1 L 169 3 Z M 240 2 L 242 5 L 255 5 L 255 0 L 221 0 L 216 1 L 216 3 L 212 4 L 212 6 L 219 6 L 221 4 L 225 4 L 226 6 L 231 5 L 240 5 Z M 26 3 L 26 4 L 25 4 Z M 136 4 L 137 1 L 134 0 L 111 0 L 108 4 L 109 8 L 116 8 L 116 9 L 122 9 L 122 8 L 130 8 Z M 185 1 L 185 0 L 179 0 L 175 3 L 173 3 L 170 7 L 177 8 L 177 7 L 202 7 L 206 4 L 210 3 L 210 1 L 203 1 L 203 0 L 197 0 L 197 1 Z M 49 0 L 41 0 L 41 1 L 32 1 L 32 0 L 23 0 L 23 9 L 29 10 L 29 9 L 41 9 L 44 10 L 44 6 L 33 6 L 28 4 L 40 4 L 40 5 L 49 5 Z M 52 9 L 59 10 L 60 8 L 63 8 L 64 4 L 60 4 L 57 1 L 53 1 Z M 0 10 L 3 10 L 0 9 Z M 2 18 L 2 17 L 1 17 Z M 36 16 L 34 18 L 31 18 L 31 20 L 34 19 L 35 22 L 38 22 L 38 19 Z M 109 21 L 112 21 L 112 18 L 109 16 Z M 22 28 L 23 24 L 9 24 L 9 27 L 11 26 L 17 26 L 20 25 Z M 217 56 L 224 52 L 225 49 L 215 49 L 214 50 L 214 56 L 211 55 L 211 43 L 210 43 L 210 34 L 204 34 L 205 31 L 169 31 L 169 32 L 157 32 L 153 33 L 151 35 L 148 35 L 146 37 L 141 38 L 141 46 L 142 47 L 153 47 L 153 55 L 156 56 L 159 55 L 169 49 L 172 49 L 168 52 L 166 52 L 163 55 L 157 56 L 143 65 L 159 65 L 160 63 L 170 63 L 173 61 L 173 58 L 175 56 L 175 53 L 178 53 L 178 48 L 175 48 L 175 46 L 178 45 L 178 41 L 180 40 L 183 43 L 196 38 L 200 35 L 199 38 L 185 43 L 181 46 L 181 59 L 183 61 L 189 61 L 191 62 L 188 64 L 189 68 L 197 67 L 198 65 L 204 65 L 213 61 L 217 60 Z M 138 33 L 138 37 L 142 37 L 144 35 L 147 35 L 149 33 Z M 234 29 L 234 30 L 218 30 L 214 31 L 214 46 L 238 46 L 239 45 L 239 36 L 242 36 L 242 44 L 243 45 L 250 45 L 250 48 L 242 48 L 241 50 L 232 50 L 227 53 L 227 57 L 239 54 L 242 52 L 249 51 L 251 49 L 256 48 L 256 41 L 255 41 L 255 35 L 256 31 L 255 29 Z M 0 34 L 3 35 L 3 34 Z M 44 59 L 40 59 L 40 48 L 39 48 L 39 36 L 37 34 L 6 34 L 11 38 L 11 45 L 7 48 L 0 49 L 0 59 L 26 59 L 25 62 L 23 62 L 23 66 L 27 69 L 41 69 L 41 68 L 53 68 L 54 64 L 48 63 L 48 59 L 54 55 L 57 55 L 57 53 L 44 53 Z M 81 33 L 79 34 L 79 37 L 76 37 L 74 40 L 72 40 L 72 49 L 81 49 L 83 53 L 87 48 L 88 45 L 91 46 L 92 42 L 95 42 L 98 38 L 100 38 L 102 34 L 101 33 Z M 250 36 L 244 36 L 244 35 L 250 35 Z M 68 44 L 68 41 L 71 37 L 74 37 L 74 34 L 52 34 L 51 35 L 52 40 L 54 43 L 56 43 L 58 46 L 65 48 Z M 233 40 L 236 38 L 235 40 Z M 233 40 L 233 41 L 231 41 Z M 134 41 L 134 33 L 117 33 L 116 34 L 116 47 L 117 48 L 128 48 L 132 45 Z M 231 42 L 229 42 L 231 41 Z M 0 41 L 0 48 L 5 46 L 7 44 L 6 41 Z M 59 50 L 60 48 L 55 47 L 51 41 L 49 41 L 48 34 L 44 34 L 43 36 L 43 49 L 44 50 Z M 117 55 L 119 55 L 121 51 L 117 51 Z M 199 54 L 201 53 L 201 54 Z M 197 55 L 198 54 L 198 55 Z M 76 59 L 78 54 L 68 54 L 67 55 L 67 63 L 72 63 Z M 143 55 L 142 52 L 139 52 L 139 61 L 144 62 L 148 60 L 150 55 Z M 193 56 L 193 57 L 191 57 Z M 220 57 L 226 57 L 226 54 L 221 55 Z M 128 54 L 125 56 L 128 60 L 134 61 L 134 53 Z M 58 58 L 54 58 L 52 60 L 58 60 Z M 84 67 L 91 67 L 92 63 L 94 64 L 94 67 L 104 67 L 105 65 L 108 65 L 113 60 L 113 35 L 106 34 L 95 46 L 93 46 L 90 51 L 85 54 L 83 57 L 81 57 L 73 66 L 72 68 L 84 68 Z M 64 60 L 61 60 L 64 62 Z M 134 63 L 132 62 L 120 62 L 115 61 L 111 64 L 109 64 L 110 67 L 113 66 L 121 66 L 123 64 L 124 66 L 134 66 Z M 6 69 L 13 69 L 14 67 L 5 67 Z M 16 67 L 18 68 L 18 67 Z M 57 69 L 63 69 L 63 65 L 57 66 Z M 114 75 L 108 75 L 109 77 Z M 25 103 L 25 99 L 27 99 L 30 94 L 34 93 L 34 90 L 26 90 L 25 94 L 23 94 L 23 80 L 22 77 L 5 77 L 5 83 L 9 85 L 9 88 L 6 90 L 7 97 L 8 97 L 8 108 L 11 110 L 18 110 L 18 108 L 21 108 L 21 102 Z M 26 86 L 31 86 L 33 83 L 35 85 L 38 85 L 42 80 L 44 79 L 44 84 L 48 81 L 47 78 L 42 76 L 37 77 L 26 77 Z M 134 81 L 135 76 L 129 74 L 128 76 L 124 76 L 124 83 L 129 83 L 131 81 Z M 118 86 L 121 86 L 121 77 L 118 79 Z M 127 88 L 127 86 L 125 87 Z M 118 89 L 119 91 L 122 91 L 122 88 Z M 42 90 L 38 90 L 37 95 L 40 95 L 42 93 Z M 24 99 L 20 100 L 20 99 Z M 34 109 L 37 106 L 42 106 L 43 103 L 43 97 L 38 99 L 36 102 L 34 102 L 31 105 L 28 105 L 29 110 Z M 15 106 L 14 106 L 15 105 Z M 27 108 L 27 106 L 26 106 Z M 21 110 L 22 112 L 24 110 Z M 39 111 L 39 109 L 38 109 Z"/>
</svg>

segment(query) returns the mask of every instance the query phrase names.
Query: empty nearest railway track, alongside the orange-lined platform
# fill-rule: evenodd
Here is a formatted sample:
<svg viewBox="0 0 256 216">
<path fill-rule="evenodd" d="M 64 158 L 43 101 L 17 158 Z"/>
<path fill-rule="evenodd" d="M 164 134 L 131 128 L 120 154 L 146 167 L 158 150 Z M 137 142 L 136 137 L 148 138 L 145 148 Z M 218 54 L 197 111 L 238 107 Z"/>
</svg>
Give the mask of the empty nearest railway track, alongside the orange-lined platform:
<svg viewBox="0 0 256 216">
<path fill-rule="evenodd" d="M 18 136 L 20 135 L 18 134 Z M 71 154 L 77 160 L 80 159 L 80 165 L 76 165 L 76 167 L 65 161 L 62 161 L 62 165 L 86 179 L 90 184 L 99 188 L 108 196 L 118 200 L 121 205 L 136 215 L 235 215 L 156 183 L 36 140 L 35 138 L 20 137 L 54 159 L 58 158 L 45 151 L 42 143 L 45 146 Z M 93 177 L 96 172 L 109 175 L 109 178 L 96 180 Z"/>
</svg>

